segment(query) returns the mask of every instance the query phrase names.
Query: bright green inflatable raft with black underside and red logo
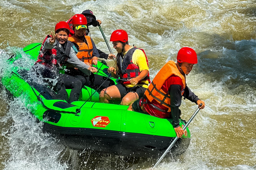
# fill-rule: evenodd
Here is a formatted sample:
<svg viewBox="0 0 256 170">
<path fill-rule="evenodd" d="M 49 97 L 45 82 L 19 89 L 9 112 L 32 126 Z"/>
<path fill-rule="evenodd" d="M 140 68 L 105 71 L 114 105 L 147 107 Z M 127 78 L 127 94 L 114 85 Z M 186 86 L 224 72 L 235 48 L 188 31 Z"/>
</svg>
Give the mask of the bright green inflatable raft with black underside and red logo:
<svg viewBox="0 0 256 170">
<path fill-rule="evenodd" d="M 33 43 L 23 50 L 36 60 L 40 46 L 41 43 Z M 9 63 L 20 57 L 10 58 Z M 107 76 L 107 65 L 98 62 L 97 67 L 96 74 Z M 2 77 L 2 83 L 13 96 L 22 97 L 31 113 L 44 122 L 43 130 L 56 135 L 66 147 L 157 158 L 176 137 L 169 119 L 127 111 L 128 106 L 99 103 L 99 94 L 89 87 L 83 87 L 79 101 L 69 104 L 46 85 L 26 81 L 28 72 L 13 67 Z M 180 125 L 185 123 L 180 121 Z M 166 156 L 183 153 L 189 143 L 187 128 Z"/>
</svg>

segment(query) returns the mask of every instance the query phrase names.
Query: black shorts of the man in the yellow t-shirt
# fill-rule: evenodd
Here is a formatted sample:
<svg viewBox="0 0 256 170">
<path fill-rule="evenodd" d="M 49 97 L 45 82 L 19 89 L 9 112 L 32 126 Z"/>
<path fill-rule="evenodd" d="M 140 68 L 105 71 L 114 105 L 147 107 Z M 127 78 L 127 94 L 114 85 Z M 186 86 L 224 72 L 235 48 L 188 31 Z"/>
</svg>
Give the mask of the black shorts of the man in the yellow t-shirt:
<svg viewBox="0 0 256 170">
<path fill-rule="evenodd" d="M 139 98 L 141 98 L 144 95 L 144 92 L 146 91 L 146 88 L 141 86 L 126 87 L 123 84 L 116 84 L 115 86 L 118 88 L 120 92 L 121 99 L 123 99 L 123 97 L 127 95 L 127 93 L 129 92 L 133 92 L 133 93 L 136 92 Z"/>
</svg>

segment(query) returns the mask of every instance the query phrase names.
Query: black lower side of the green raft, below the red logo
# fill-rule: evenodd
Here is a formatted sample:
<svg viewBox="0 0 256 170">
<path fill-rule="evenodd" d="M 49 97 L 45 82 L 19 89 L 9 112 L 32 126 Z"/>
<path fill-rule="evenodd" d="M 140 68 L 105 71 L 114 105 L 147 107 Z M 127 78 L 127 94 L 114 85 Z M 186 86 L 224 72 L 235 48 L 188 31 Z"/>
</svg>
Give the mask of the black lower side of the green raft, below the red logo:
<svg viewBox="0 0 256 170">
<path fill-rule="evenodd" d="M 69 148 L 146 158 L 161 156 L 174 139 L 174 137 L 104 129 L 63 128 L 49 124 L 44 125 L 44 130 L 55 133 L 62 144 Z M 190 138 L 179 138 L 167 156 L 182 154 L 188 148 L 189 143 Z"/>
</svg>

